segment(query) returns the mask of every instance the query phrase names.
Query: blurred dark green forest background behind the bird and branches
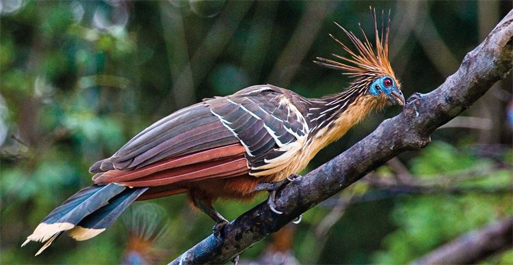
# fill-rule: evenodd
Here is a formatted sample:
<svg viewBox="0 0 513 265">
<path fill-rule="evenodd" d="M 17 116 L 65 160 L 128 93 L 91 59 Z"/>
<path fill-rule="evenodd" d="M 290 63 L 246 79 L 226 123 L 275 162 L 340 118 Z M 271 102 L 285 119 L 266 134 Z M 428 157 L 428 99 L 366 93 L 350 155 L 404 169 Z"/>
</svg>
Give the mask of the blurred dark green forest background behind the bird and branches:
<svg viewBox="0 0 513 265">
<path fill-rule="evenodd" d="M 435 89 L 455 72 L 512 4 L 0 1 L 0 262 L 169 262 L 213 225 L 183 195 L 138 202 L 96 238 L 62 236 L 38 257 L 40 244 L 19 246 L 48 212 L 90 184 L 92 163 L 159 117 L 261 83 L 308 97 L 340 92 L 349 79 L 312 62 L 344 55 L 328 36 L 347 42 L 334 21 L 352 31 L 360 22 L 370 31 L 369 5 L 391 10 L 390 59 L 410 96 Z M 254 245 L 241 262 L 265 262 L 269 255 L 286 264 L 410 262 L 512 215 L 511 100 L 510 74 L 436 130 L 427 148 L 401 154 L 309 210 L 302 223 Z M 400 111 L 373 113 L 319 152 L 306 171 Z M 401 189 L 403 182 L 426 190 Z M 219 201 L 216 208 L 234 219 L 264 199 Z M 150 240 L 137 244 L 137 236 Z M 512 264 L 513 251 L 482 262 Z"/>
</svg>

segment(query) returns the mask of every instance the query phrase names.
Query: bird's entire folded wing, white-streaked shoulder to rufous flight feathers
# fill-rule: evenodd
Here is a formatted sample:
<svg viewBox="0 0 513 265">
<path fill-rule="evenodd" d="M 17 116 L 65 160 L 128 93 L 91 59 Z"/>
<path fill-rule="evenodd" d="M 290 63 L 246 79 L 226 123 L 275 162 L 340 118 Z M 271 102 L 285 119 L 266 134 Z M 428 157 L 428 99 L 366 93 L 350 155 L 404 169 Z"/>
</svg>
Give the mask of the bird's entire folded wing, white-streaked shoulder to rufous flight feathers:
<svg viewBox="0 0 513 265">
<path fill-rule="evenodd" d="M 92 165 L 98 184 L 163 186 L 276 173 L 302 148 L 308 125 L 285 89 L 254 86 L 176 111 Z"/>
</svg>

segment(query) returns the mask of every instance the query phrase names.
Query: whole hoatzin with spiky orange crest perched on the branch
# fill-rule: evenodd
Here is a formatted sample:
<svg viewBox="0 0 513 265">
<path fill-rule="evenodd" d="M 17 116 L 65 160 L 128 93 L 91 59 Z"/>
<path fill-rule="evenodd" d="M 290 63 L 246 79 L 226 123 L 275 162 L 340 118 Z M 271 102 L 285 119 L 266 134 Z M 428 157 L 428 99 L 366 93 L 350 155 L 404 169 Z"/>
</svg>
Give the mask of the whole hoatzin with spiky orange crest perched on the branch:
<svg viewBox="0 0 513 265">
<path fill-rule="evenodd" d="M 23 245 L 46 242 L 40 253 L 64 231 L 75 240 L 92 238 L 133 201 L 178 193 L 187 193 L 217 223 L 220 236 L 227 221 L 212 207 L 215 199 L 275 192 L 371 110 L 404 104 L 388 60 L 390 16 L 385 33 L 378 33 L 376 12 L 373 23 L 374 45 L 361 27 L 363 40 L 337 24 L 356 50 L 330 35 L 349 56 L 315 61 L 353 78 L 343 92 L 304 98 L 274 85 L 255 85 L 176 111 L 94 163 L 94 184 L 55 208 Z M 279 213 L 272 195 L 268 202 Z"/>
</svg>

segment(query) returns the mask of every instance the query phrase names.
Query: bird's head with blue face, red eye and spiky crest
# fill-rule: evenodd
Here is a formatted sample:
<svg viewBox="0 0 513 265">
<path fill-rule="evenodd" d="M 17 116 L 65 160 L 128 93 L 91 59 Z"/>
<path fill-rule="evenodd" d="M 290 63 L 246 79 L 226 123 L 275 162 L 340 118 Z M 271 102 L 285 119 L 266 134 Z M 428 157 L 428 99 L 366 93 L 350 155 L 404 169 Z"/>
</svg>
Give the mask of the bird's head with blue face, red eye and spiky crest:
<svg viewBox="0 0 513 265">
<path fill-rule="evenodd" d="M 343 70 L 343 74 L 347 74 L 354 79 L 350 89 L 354 89 L 354 92 L 360 94 L 360 96 L 376 96 L 378 102 L 382 104 L 392 103 L 404 105 L 401 83 L 395 78 L 395 74 L 388 59 L 390 12 L 384 33 L 383 27 L 381 33 L 378 32 L 376 10 L 371 9 L 371 14 L 376 36 L 376 43 L 374 45 L 369 42 L 361 26 L 360 31 L 362 31 L 364 37 L 363 41 L 358 39 L 352 31 L 347 31 L 339 24 L 335 23 L 345 32 L 347 37 L 350 38 L 356 50 L 351 50 L 343 42 L 330 34 L 330 37 L 338 42 L 350 56 L 343 57 L 341 55 L 333 55 L 342 61 L 317 57 L 315 63 L 328 68 Z M 384 14 L 382 14 L 382 17 L 384 18 Z"/>
</svg>

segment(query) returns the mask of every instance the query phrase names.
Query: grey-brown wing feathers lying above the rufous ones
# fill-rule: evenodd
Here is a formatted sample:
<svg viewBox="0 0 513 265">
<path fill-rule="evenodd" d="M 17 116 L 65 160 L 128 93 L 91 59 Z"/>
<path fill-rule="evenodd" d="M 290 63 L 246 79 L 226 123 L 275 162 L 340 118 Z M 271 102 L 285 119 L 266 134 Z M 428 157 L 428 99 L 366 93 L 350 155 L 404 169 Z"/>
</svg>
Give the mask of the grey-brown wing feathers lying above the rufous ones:
<svg viewBox="0 0 513 265">
<path fill-rule="evenodd" d="M 90 171 L 138 169 L 166 158 L 235 143 L 239 140 L 211 113 L 207 104 L 198 103 L 146 128 L 116 154 L 92 165 Z"/>
</svg>

